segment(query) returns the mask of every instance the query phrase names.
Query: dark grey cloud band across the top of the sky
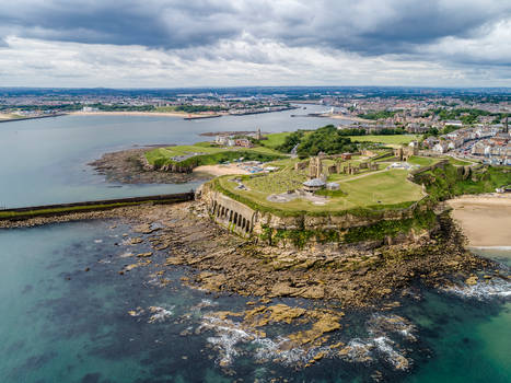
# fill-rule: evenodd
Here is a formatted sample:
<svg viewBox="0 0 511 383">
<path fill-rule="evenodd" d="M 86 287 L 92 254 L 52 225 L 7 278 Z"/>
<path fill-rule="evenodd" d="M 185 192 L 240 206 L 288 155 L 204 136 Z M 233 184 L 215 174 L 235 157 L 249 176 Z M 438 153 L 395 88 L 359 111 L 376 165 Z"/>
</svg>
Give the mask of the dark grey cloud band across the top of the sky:
<svg viewBox="0 0 511 383">
<path fill-rule="evenodd" d="M 511 15 L 511 3 L 501 0 L 19 0 L 12 3 L 0 13 L 0 34 L 4 36 L 181 49 L 249 35 L 288 46 L 341 49 L 370 56 L 414 53 L 418 46 L 445 36 L 477 37 L 488 25 Z"/>
</svg>

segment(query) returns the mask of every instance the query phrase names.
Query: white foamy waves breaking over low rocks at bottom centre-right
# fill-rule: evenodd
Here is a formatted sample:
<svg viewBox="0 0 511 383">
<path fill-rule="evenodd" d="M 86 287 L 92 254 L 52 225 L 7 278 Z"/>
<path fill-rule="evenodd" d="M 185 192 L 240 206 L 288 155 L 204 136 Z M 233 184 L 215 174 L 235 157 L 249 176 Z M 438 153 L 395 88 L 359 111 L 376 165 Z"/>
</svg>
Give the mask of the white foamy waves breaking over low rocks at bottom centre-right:
<svg viewBox="0 0 511 383">
<path fill-rule="evenodd" d="M 367 327 L 368 338 L 353 338 L 345 347 L 342 343 L 297 347 L 286 336 L 267 337 L 255 328 L 245 328 L 242 323 L 217 316 L 205 315 L 199 328 L 216 333 L 207 341 L 219 351 L 217 362 L 221 367 L 232 364 L 242 353 L 249 353 L 259 363 L 271 361 L 287 367 L 306 367 L 323 358 L 340 358 L 361 363 L 381 360 L 396 370 L 409 369 L 413 361 L 396 347 L 390 334 L 415 341 L 414 325 L 397 315 L 376 314 L 368 321 Z"/>
</svg>

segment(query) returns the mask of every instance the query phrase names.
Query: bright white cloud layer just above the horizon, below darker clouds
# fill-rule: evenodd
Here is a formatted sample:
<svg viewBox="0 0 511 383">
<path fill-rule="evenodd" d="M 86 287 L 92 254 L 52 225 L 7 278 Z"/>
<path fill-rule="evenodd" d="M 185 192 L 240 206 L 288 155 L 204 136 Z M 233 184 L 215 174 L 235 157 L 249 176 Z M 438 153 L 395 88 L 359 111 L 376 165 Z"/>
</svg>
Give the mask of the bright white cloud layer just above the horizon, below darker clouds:
<svg viewBox="0 0 511 383">
<path fill-rule="evenodd" d="M 9 37 L 0 83 L 38 86 L 511 85 L 488 70 L 243 36 L 175 51 Z"/>
</svg>

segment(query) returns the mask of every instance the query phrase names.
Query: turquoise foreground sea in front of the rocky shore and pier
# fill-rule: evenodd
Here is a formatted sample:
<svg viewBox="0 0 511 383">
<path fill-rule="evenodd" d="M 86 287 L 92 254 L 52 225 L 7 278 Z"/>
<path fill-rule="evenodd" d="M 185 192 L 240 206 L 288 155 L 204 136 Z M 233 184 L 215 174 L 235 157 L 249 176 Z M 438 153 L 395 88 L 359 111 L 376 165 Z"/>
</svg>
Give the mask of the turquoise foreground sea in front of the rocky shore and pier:
<svg viewBox="0 0 511 383">
<path fill-rule="evenodd" d="M 416 341 L 397 333 L 384 334 L 391 351 L 375 348 L 371 361 L 325 358 L 312 368 L 295 370 L 293 361 L 262 361 L 284 328 L 268 329 L 267 344 L 240 339 L 220 327 L 198 332 L 210 311 L 240 311 L 247 299 L 211 297 L 182 285 L 187 269 L 174 267 L 161 287 L 153 265 L 119 275 L 129 229 L 113 221 L 73 222 L 0 231 L 0 376 L 2 382 L 368 382 L 379 371 L 390 382 L 509 382 L 510 304 L 414 288 L 421 299 L 402 299 L 402 306 L 383 315 L 400 315 L 416 327 Z M 491 252 L 488 254 L 491 255 Z M 499 254 L 509 259 L 511 253 Z M 85 271 L 85 269 L 90 269 Z M 509 292 L 509 285 L 499 290 Z M 474 291 L 473 291 L 474 292 Z M 274 301 L 279 303 L 281 301 Z M 290 305 L 303 301 L 283 300 Z M 151 322 L 150 307 L 164 311 Z M 131 316 L 135 311 L 137 316 Z M 371 312 L 346 312 L 342 329 L 332 341 L 378 345 L 368 323 Z M 378 314 L 380 315 L 380 314 Z M 184 335 L 183 332 L 186 332 Z M 212 347 L 218 343 L 219 347 Z M 385 346 L 384 345 L 384 346 Z M 232 362 L 220 365 L 231 349 Z M 408 350 L 409 371 L 396 370 L 392 351 Z M 223 350 L 223 351 L 222 351 Z"/>
</svg>

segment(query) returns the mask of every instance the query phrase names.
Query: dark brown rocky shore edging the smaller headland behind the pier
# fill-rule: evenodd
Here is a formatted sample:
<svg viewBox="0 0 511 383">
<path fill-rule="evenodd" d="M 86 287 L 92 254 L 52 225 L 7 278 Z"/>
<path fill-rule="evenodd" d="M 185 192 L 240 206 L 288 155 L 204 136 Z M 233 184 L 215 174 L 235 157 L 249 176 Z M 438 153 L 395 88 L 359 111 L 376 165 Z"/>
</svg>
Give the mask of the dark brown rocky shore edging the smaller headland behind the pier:
<svg viewBox="0 0 511 383">
<path fill-rule="evenodd" d="M 160 146 L 152 146 L 158 148 Z M 161 146 L 167 147 L 167 146 Z M 89 163 L 94 170 L 105 175 L 107 182 L 121 184 L 184 184 L 206 182 L 211 178 L 202 173 L 174 173 L 148 169 L 143 153 L 147 148 L 121 150 L 105 153 L 101 159 Z"/>
</svg>

